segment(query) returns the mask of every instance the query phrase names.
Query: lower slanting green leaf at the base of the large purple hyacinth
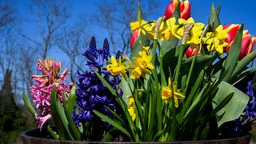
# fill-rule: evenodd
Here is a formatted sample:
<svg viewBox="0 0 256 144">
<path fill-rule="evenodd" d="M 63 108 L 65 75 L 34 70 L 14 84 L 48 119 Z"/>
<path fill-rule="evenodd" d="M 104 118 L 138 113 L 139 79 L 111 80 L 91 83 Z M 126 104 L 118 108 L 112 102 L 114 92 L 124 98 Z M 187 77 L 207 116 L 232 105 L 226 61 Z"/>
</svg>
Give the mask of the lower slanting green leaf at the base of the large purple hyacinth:
<svg viewBox="0 0 256 144">
<path fill-rule="evenodd" d="M 118 130 L 121 130 L 122 133 L 126 134 L 130 138 L 130 133 L 125 128 L 123 128 L 118 122 L 114 122 L 114 120 L 96 110 L 94 110 L 94 114 L 98 115 L 99 118 L 102 118 L 102 120 L 110 123 L 110 125 L 114 126 Z"/>
</svg>

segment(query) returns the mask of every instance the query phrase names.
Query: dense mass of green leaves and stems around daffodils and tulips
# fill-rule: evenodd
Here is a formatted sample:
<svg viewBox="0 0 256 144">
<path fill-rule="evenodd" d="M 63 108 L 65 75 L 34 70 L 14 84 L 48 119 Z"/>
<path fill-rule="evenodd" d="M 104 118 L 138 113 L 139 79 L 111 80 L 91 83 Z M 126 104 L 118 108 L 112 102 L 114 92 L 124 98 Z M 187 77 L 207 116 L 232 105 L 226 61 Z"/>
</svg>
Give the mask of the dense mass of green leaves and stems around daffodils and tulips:
<svg viewBox="0 0 256 144">
<path fill-rule="evenodd" d="M 179 10 L 178 10 L 179 11 Z M 208 30 L 213 30 L 220 25 L 220 6 L 216 10 L 211 7 Z M 176 11 L 177 13 L 177 11 Z M 180 14 L 174 14 L 179 16 Z M 146 35 L 137 39 L 130 59 L 138 56 L 148 41 Z M 142 45 L 140 44 L 142 42 Z M 254 73 L 255 67 L 247 68 L 256 54 L 252 53 L 238 59 L 242 45 L 242 26 L 234 38 L 230 53 L 223 55 L 210 51 L 202 52 L 191 58 L 186 58 L 187 44 L 179 44 L 177 38 L 169 42 L 164 40 L 152 41 L 150 46 L 153 51 L 152 63 L 155 69 L 145 78 L 122 79 L 121 87 L 124 94 L 134 98 L 134 114 L 136 118 L 131 121 L 127 112 L 129 107 L 109 84 L 99 74 L 98 78 L 109 88 L 122 107 L 123 114 L 110 119 L 94 111 L 102 120 L 114 126 L 114 132 L 130 138 L 134 142 L 173 141 L 173 140 L 199 140 L 218 137 L 218 128 L 225 122 L 237 119 L 247 102 L 248 96 L 234 88 L 233 84 L 244 78 L 247 74 Z M 202 43 L 202 49 L 204 44 Z M 158 48 L 158 50 L 157 50 Z M 197 51 L 199 46 L 197 47 Z M 196 52 L 195 52 L 196 53 Z M 170 103 L 162 101 L 162 86 L 166 80 L 178 83 L 178 90 L 185 94 L 185 99 L 179 102 L 178 108 L 174 106 L 174 97 Z M 139 91 L 142 90 L 142 93 Z M 174 88 L 171 86 L 172 95 Z M 125 96 L 126 96 L 125 95 Z M 114 112 L 111 112 L 114 114 Z M 107 134 L 104 140 L 114 138 Z"/>
</svg>

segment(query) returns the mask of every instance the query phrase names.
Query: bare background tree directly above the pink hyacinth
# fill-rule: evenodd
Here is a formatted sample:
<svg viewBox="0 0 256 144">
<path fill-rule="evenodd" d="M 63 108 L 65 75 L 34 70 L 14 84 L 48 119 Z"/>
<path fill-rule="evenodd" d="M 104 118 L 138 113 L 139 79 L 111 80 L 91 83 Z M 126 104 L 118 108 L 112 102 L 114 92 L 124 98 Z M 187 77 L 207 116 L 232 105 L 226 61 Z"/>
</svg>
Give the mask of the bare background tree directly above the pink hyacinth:
<svg viewBox="0 0 256 144">
<path fill-rule="evenodd" d="M 41 56 L 46 58 L 48 51 L 54 46 L 57 31 L 69 18 L 70 5 L 63 0 L 33 0 L 31 12 L 37 17 L 39 38 L 22 33 L 22 37 L 32 42 L 41 50 Z"/>
</svg>

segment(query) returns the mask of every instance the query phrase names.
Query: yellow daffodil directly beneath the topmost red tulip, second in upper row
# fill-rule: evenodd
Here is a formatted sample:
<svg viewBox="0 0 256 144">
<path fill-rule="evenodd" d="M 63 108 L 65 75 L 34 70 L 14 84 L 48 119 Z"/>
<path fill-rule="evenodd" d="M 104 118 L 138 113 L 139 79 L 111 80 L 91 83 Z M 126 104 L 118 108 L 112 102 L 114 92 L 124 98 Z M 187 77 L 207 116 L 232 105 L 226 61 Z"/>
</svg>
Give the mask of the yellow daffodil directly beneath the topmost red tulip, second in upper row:
<svg viewBox="0 0 256 144">
<path fill-rule="evenodd" d="M 178 30 L 178 25 L 176 25 L 176 18 L 170 18 L 166 20 L 166 30 L 162 31 L 164 38 L 169 41 L 171 38 L 174 38 Z"/>
</svg>

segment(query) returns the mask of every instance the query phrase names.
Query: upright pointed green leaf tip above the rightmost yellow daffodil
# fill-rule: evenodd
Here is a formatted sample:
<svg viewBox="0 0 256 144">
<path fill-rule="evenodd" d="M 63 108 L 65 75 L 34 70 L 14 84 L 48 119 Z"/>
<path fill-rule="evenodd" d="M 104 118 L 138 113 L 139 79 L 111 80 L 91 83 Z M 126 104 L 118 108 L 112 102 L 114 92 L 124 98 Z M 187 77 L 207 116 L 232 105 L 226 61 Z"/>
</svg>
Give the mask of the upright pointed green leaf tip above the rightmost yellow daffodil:
<svg viewBox="0 0 256 144">
<path fill-rule="evenodd" d="M 210 18 L 208 20 L 208 24 L 214 29 L 216 29 L 221 24 L 221 21 L 218 17 L 219 10 L 217 11 L 215 9 L 214 3 L 211 5 Z"/>
</svg>

